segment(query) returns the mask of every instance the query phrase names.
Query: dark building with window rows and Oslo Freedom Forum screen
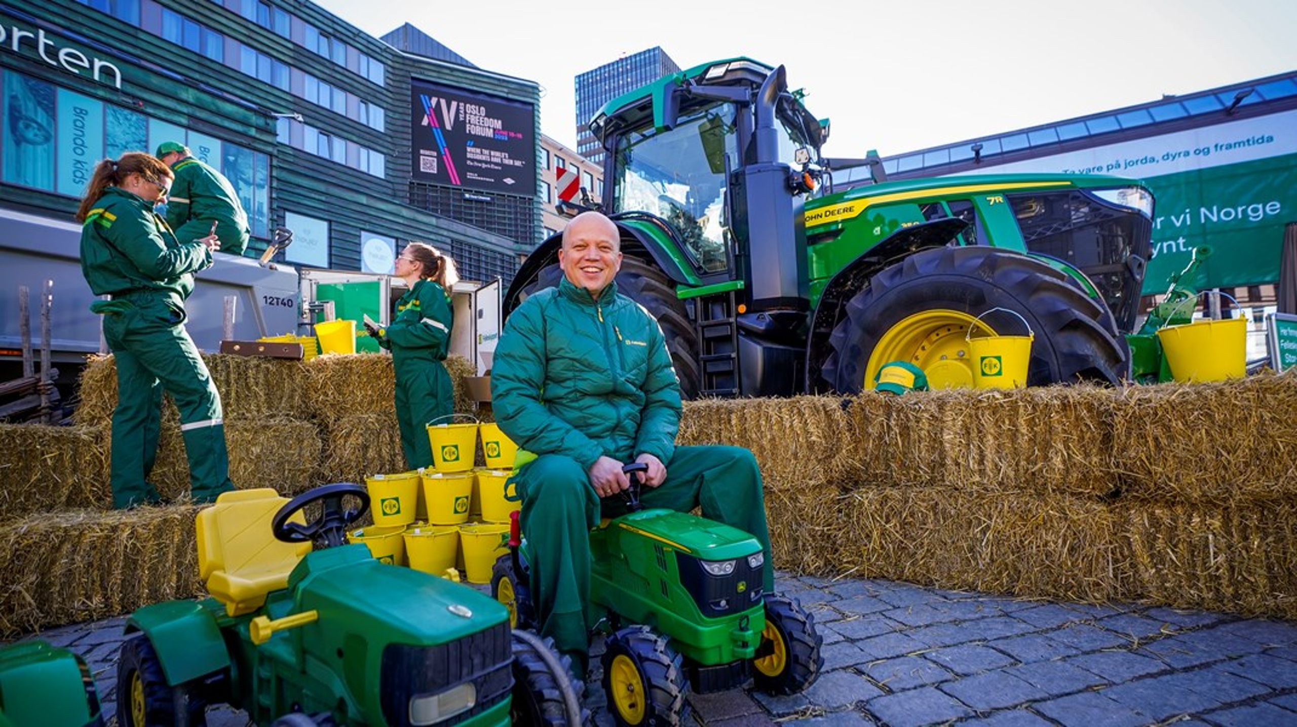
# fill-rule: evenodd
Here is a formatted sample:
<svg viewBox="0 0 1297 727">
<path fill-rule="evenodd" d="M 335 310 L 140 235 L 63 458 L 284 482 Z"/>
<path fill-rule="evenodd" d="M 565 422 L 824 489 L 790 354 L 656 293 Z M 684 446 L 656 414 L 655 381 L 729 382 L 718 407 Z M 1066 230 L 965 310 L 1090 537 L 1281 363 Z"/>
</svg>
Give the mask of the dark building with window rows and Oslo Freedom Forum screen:
<svg viewBox="0 0 1297 727">
<path fill-rule="evenodd" d="M 99 159 L 183 141 L 239 193 L 248 255 L 287 225 L 316 240 L 285 251 L 294 264 L 389 272 L 362 250 L 425 240 L 467 279 L 508 280 L 541 229 L 540 88 L 457 61 L 393 48 L 302 1 L 8 3 L 0 206 L 69 222 Z M 455 183 L 412 168 L 428 126 L 411 104 L 419 83 L 518 111 L 507 141 L 528 163 L 508 170 L 506 190 L 485 189 L 493 176 L 472 159 Z"/>
</svg>

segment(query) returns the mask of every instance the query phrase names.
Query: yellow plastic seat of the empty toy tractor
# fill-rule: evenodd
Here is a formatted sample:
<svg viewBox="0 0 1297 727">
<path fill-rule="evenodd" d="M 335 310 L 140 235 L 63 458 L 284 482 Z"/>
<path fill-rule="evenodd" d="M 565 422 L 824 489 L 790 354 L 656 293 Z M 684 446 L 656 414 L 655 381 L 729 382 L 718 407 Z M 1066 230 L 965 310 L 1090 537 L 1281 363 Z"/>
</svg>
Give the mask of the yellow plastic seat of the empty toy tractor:
<svg viewBox="0 0 1297 727">
<path fill-rule="evenodd" d="M 288 587 L 288 574 L 311 552 L 309 542 L 275 538 L 271 521 L 285 504 L 268 487 L 235 490 L 198 513 L 198 575 L 227 614 L 261 608 L 266 594 Z M 292 520 L 305 522 L 301 512 Z"/>
</svg>

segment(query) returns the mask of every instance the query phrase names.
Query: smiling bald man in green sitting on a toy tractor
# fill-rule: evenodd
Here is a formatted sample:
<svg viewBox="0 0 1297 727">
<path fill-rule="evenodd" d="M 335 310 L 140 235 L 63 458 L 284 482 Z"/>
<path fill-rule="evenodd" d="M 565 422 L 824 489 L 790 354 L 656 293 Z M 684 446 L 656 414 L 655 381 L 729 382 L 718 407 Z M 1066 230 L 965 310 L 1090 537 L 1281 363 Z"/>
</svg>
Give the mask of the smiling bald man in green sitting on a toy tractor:
<svg viewBox="0 0 1297 727">
<path fill-rule="evenodd" d="M 492 402 L 501 429 L 537 456 L 516 474 L 521 527 L 532 546 L 532 595 L 541 634 L 585 667 L 590 614 L 590 529 L 630 486 L 626 463 L 648 465 L 641 502 L 770 538 L 761 474 L 741 447 L 677 447 L 680 382 L 658 321 L 617 294 L 617 227 L 582 213 L 563 231 L 563 280 L 515 310 L 495 349 Z M 581 674 L 584 676 L 584 671 Z"/>
</svg>

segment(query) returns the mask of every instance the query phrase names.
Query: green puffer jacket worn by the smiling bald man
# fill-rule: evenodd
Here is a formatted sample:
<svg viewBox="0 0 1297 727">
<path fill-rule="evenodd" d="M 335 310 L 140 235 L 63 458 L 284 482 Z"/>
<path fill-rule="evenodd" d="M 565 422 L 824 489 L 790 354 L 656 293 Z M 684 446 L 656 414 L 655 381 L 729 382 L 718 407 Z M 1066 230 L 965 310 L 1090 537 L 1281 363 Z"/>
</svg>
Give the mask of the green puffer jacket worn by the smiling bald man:
<svg viewBox="0 0 1297 727">
<path fill-rule="evenodd" d="M 537 455 L 586 470 L 602 455 L 669 463 L 680 382 L 661 328 L 608 284 L 595 301 L 565 277 L 529 297 L 505 324 L 492 369 L 499 428 Z"/>
</svg>

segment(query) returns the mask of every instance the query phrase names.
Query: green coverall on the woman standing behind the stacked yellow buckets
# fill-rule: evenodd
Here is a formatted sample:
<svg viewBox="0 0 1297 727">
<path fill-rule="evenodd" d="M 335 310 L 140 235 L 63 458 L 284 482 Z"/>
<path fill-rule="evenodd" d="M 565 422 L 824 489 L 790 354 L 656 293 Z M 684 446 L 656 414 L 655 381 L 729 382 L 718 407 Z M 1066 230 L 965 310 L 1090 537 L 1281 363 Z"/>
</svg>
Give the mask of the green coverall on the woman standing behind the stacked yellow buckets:
<svg viewBox="0 0 1297 727">
<path fill-rule="evenodd" d="M 379 329 L 379 346 L 392 351 L 401 450 L 410 469 L 432 467 L 428 422 L 454 411 L 450 375 L 441 363 L 450 349 L 453 324 L 446 289 L 420 280 L 397 301 L 392 325 Z"/>
</svg>

